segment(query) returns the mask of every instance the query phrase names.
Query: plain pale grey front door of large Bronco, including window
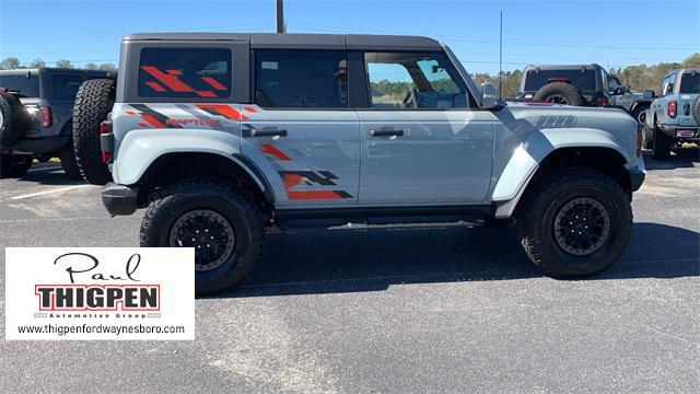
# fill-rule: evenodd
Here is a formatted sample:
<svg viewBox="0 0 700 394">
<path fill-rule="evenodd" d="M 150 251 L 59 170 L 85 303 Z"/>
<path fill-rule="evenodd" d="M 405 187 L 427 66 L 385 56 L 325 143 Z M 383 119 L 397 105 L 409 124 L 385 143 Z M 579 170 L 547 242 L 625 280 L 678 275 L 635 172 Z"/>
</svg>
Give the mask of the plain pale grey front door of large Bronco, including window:
<svg viewBox="0 0 700 394">
<path fill-rule="evenodd" d="M 493 117 L 475 111 L 440 53 L 365 53 L 362 205 L 481 202 L 490 186 Z"/>
</svg>

